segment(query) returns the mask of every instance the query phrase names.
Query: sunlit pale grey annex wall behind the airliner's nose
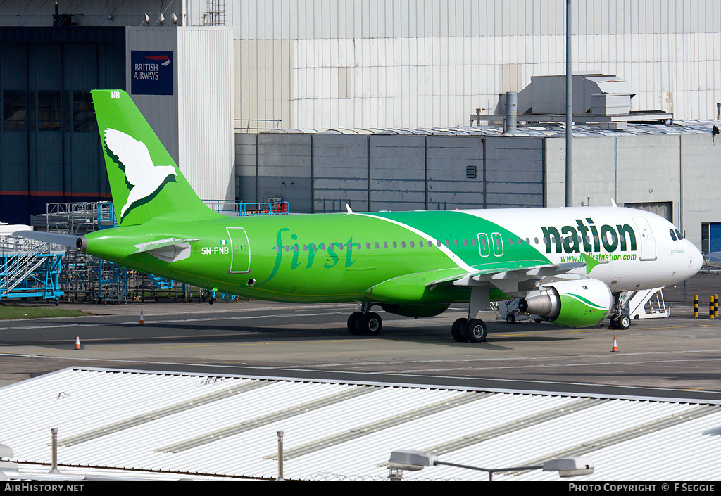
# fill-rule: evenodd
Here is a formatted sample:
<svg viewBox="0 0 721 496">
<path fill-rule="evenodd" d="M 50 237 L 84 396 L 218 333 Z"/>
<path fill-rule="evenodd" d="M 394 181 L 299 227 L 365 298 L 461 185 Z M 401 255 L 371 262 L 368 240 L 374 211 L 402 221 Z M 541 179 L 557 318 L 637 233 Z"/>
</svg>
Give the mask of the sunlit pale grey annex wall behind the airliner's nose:
<svg viewBox="0 0 721 496">
<path fill-rule="evenodd" d="M 716 137 L 716 139 L 719 139 Z M 547 206 L 564 205 L 565 140 L 547 138 Z M 701 247 L 701 225 L 721 222 L 717 208 L 721 148 L 711 133 L 577 138 L 574 205 L 668 203 L 671 221 Z"/>
</svg>

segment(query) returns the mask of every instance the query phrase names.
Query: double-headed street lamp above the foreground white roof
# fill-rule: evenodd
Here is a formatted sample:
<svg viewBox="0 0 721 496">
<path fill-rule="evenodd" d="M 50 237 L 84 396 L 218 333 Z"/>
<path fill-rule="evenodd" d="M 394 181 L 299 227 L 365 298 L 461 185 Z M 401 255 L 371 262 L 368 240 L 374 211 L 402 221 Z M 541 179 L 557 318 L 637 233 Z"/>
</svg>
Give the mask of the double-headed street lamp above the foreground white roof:
<svg viewBox="0 0 721 496">
<path fill-rule="evenodd" d="M 388 464 L 392 469 L 414 471 L 421 470 L 426 466 L 455 466 L 460 469 L 485 471 L 488 473 L 488 480 L 493 480 L 494 472 L 542 469 L 543 471 L 557 471 L 560 477 L 575 477 L 578 475 L 593 474 L 593 470 L 596 468 L 593 465 L 593 460 L 587 456 L 570 456 L 568 458 L 544 461 L 542 465 L 514 466 L 506 469 L 483 469 L 479 466 L 451 464 L 448 461 L 438 460 L 438 457 L 433 454 L 413 450 L 392 451 Z"/>
</svg>

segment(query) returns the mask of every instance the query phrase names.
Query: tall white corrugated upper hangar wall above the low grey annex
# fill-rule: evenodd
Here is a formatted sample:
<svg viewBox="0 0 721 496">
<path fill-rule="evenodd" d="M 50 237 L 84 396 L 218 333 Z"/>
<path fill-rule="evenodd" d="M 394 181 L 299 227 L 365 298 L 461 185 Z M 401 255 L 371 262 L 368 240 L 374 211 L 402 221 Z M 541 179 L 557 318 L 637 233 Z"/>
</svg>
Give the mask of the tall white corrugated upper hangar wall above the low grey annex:
<svg viewBox="0 0 721 496">
<path fill-rule="evenodd" d="M 236 118 L 282 128 L 464 125 L 531 76 L 565 72 L 562 1 L 246 0 L 228 9 Z M 573 18 L 573 71 L 627 79 L 633 110 L 716 115 L 720 2 L 575 1 Z"/>
</svg>

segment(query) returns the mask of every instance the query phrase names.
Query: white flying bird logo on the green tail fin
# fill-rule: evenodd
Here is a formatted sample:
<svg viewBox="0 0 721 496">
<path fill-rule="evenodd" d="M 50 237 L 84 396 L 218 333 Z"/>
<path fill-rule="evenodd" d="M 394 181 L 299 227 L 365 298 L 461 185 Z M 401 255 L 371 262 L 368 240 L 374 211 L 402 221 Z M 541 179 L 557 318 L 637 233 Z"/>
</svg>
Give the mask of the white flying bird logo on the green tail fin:
<svg viewBox="0 0 721 496">
<path fill-rule="evenodd" d="M 148 198 L 163 185 L 167 177 L 175 175 L 172 165 L 153 164 L 148 147 L 117 129 L 105 130 L 105 144 L 118 157 L 125 168 L 125 178 L 133 185 L 128 193 L 128 200 L 120 209 L 120 217 L 134 203 Z"/>
</svg>

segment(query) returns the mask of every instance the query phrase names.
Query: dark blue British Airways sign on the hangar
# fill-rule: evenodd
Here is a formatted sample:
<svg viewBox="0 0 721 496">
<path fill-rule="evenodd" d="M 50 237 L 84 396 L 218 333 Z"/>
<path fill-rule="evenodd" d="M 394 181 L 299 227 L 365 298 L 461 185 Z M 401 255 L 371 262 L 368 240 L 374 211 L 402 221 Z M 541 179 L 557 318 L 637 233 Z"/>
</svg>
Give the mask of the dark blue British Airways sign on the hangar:
<svg viewBox="0 0 721 496">
<path fill-rule="evenodd" d="M 173 94 L 173 53 L 132 50 L 131 92 Z"/>
</svg>

